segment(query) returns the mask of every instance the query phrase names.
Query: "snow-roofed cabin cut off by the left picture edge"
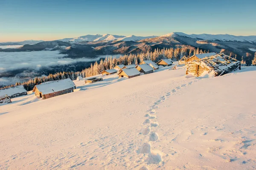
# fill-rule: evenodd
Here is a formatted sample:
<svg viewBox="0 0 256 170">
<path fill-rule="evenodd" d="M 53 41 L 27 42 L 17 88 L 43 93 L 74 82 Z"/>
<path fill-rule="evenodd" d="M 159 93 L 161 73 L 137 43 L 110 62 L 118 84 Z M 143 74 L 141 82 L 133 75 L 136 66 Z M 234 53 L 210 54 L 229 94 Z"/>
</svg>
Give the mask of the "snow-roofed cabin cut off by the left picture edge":
<svg viewBox="0 0 256 170">
<path fill-rule="evenodd" d="M 3 88 L 0 90 L 0 96 L 8 96 L 10 99 L 18 96 L 27 95 L 27 91 L 23 85 L 17 85 L 10 88 Z"/>
</svg>

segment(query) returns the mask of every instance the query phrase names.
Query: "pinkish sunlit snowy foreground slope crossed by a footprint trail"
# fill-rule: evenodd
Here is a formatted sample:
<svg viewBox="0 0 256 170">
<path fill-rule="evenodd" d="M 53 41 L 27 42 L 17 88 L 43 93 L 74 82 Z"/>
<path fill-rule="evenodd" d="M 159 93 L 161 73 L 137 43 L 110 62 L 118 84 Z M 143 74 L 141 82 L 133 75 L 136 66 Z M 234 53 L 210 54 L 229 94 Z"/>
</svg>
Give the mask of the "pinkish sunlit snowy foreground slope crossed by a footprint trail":
<svg viewBox="0 0 256 170">
<path fill-rule="evenodd" d="M 0 169 L 255 169 L 256 67 L 168 68 L 13 98 L 0 107 Z"/>
</svg>

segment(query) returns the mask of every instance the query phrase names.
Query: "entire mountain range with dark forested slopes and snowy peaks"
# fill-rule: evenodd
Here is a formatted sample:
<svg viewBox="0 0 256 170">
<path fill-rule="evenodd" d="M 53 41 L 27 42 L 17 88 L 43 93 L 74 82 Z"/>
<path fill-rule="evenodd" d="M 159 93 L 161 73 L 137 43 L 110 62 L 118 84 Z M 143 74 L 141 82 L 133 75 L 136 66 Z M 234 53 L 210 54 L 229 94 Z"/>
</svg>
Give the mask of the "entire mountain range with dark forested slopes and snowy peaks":
<svg viewBox="0 0 256 170">
<path fill-rule="evenodd" d="M 3 52 L 13 51 L 56 51 L 67 54 L 70 58 L 89 57 L 111 54 L 136 54 L 156 48 L 175 48 L 186 45 L 212 52 L 233 52 L 241 56 L 253 58 L 256 50 L 256 36 L 234 36 L 229 34 L 184 34 L 173 32 L 162 36 L 122 36 L 111 34 L 85 35 L 75 38 L 64 38 L 54 41 L 26 40 L 23 42 L 4 42 L 1 44 L 20 44 L 19 48 L 1 49 Z M 30 45 L 29 45 L 30 44 Z"/>
</svg>

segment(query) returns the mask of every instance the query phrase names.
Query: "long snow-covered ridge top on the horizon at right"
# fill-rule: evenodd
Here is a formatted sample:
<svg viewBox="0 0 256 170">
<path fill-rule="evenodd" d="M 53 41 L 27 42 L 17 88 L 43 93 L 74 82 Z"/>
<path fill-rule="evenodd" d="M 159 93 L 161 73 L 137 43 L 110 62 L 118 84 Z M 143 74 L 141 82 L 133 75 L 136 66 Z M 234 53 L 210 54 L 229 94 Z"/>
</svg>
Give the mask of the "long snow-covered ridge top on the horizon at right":
<svg viewBox="0 0 256 170">
<path fill-rule="evenodd" d="M 229 34 L 184 34 L 182 32 L 173 32 L 161 37 L 183 36 L 201 40 L 219 40 L 219 41 L 235 41 L 235 42 L 256 42 L 256 36 L 235 36 Z"/>
</svg>

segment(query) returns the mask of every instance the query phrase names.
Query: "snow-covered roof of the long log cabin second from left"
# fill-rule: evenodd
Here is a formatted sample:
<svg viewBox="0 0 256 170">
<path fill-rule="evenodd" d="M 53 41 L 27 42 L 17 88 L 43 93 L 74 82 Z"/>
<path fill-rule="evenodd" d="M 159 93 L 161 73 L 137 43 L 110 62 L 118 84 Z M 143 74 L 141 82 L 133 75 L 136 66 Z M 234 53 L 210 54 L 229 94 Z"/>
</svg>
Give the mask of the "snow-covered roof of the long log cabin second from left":
<svg viewBox="0 0 256 170">
<path fill-rule="evenodd" d="M 71 79 L 61 79 L 55 80 L 50 82 L 44 82 L 40 85 L 36 85 L 35 87 L 42 93 L 42 94 L 50 94 L 57 91 L 63 91 L 68 88 L 75 87 L 75 83 Z M 33 89 L 33 91 L 35 88 Z"/>
</svg>

